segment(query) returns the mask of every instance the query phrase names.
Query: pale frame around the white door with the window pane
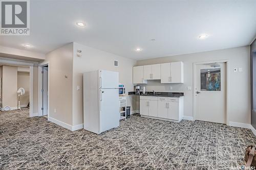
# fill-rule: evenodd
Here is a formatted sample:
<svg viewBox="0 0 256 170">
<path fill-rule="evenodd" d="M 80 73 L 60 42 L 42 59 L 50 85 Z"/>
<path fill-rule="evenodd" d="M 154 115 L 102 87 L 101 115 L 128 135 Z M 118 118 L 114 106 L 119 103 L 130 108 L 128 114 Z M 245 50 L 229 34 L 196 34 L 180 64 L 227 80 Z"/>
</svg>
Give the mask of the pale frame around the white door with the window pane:
<svg viewBox="0 0 256 170">
<path fill-rule="evenodd" d="M 196 66 L 201 64 L 210 64 L 210 63 L 226 63 L 226 125 L 229 125 L 229 60 L 215 60 L 215 61 L 204 61 L 204 62 L 194 62 L 193 63 L 193 119 L 196 120 Z"/>
</svg>

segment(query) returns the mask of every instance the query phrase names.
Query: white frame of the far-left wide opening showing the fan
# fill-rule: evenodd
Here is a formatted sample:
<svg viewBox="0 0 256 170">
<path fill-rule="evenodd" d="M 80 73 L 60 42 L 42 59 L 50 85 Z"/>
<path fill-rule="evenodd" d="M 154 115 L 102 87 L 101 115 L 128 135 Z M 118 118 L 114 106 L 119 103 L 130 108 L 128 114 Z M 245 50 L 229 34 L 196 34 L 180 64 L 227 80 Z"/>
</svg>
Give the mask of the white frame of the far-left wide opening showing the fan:
<svg viewBox="0 0 256 170">
<path fill-rule="evenodd" d="M 0 57 L 1 64 L 14 65 L 14 66 L 29 66 L 29 117 L 37 116 L 37 113 L 33 113 L 33 87 L 34 87 L 34 63 L 27 63 L 22 61 L 7 60 Z"/>
</svg>

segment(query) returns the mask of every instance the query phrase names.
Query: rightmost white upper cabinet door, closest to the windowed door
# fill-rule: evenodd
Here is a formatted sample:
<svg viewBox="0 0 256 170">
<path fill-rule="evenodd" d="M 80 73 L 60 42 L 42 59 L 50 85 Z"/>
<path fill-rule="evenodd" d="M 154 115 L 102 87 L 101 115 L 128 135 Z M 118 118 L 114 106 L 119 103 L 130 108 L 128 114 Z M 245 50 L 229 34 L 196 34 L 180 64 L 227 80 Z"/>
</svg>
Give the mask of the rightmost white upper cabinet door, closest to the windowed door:
<svg viewBox="0 0 256 170">
<path fill-rule="evenodd" d="M 172 83 L 183 83 L 183 62 L 170 63 L 170 78 Z"/>
</svg>

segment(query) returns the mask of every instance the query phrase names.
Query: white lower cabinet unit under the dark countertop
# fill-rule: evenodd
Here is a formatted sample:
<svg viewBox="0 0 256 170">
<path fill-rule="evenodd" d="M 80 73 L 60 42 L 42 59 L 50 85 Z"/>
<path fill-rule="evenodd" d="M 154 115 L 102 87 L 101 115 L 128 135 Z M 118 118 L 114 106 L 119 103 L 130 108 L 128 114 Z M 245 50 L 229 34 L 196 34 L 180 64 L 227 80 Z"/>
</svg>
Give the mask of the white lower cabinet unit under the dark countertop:
<svg viewBox="0 0 256 170">
<path fill-rule="evenodd" d="M 183 118 L 183 97 L 140 96 L 140 114 L 142 116 L 180 122 Z"/>
</svg>

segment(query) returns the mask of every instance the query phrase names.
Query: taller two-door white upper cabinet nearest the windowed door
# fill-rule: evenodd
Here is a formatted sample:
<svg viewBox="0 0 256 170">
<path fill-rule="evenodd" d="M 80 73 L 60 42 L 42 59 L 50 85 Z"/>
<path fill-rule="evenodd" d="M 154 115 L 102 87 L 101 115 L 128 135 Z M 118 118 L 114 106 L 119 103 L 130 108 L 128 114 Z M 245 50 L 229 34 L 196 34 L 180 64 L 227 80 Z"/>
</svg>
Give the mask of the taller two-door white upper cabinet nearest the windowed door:
<svg viewBox="0 0 256 170">
<path fill-rule="evenodd" d="M 183 62 L 161 64 L 161 83 L 184 83 Z"/>
</svg>

